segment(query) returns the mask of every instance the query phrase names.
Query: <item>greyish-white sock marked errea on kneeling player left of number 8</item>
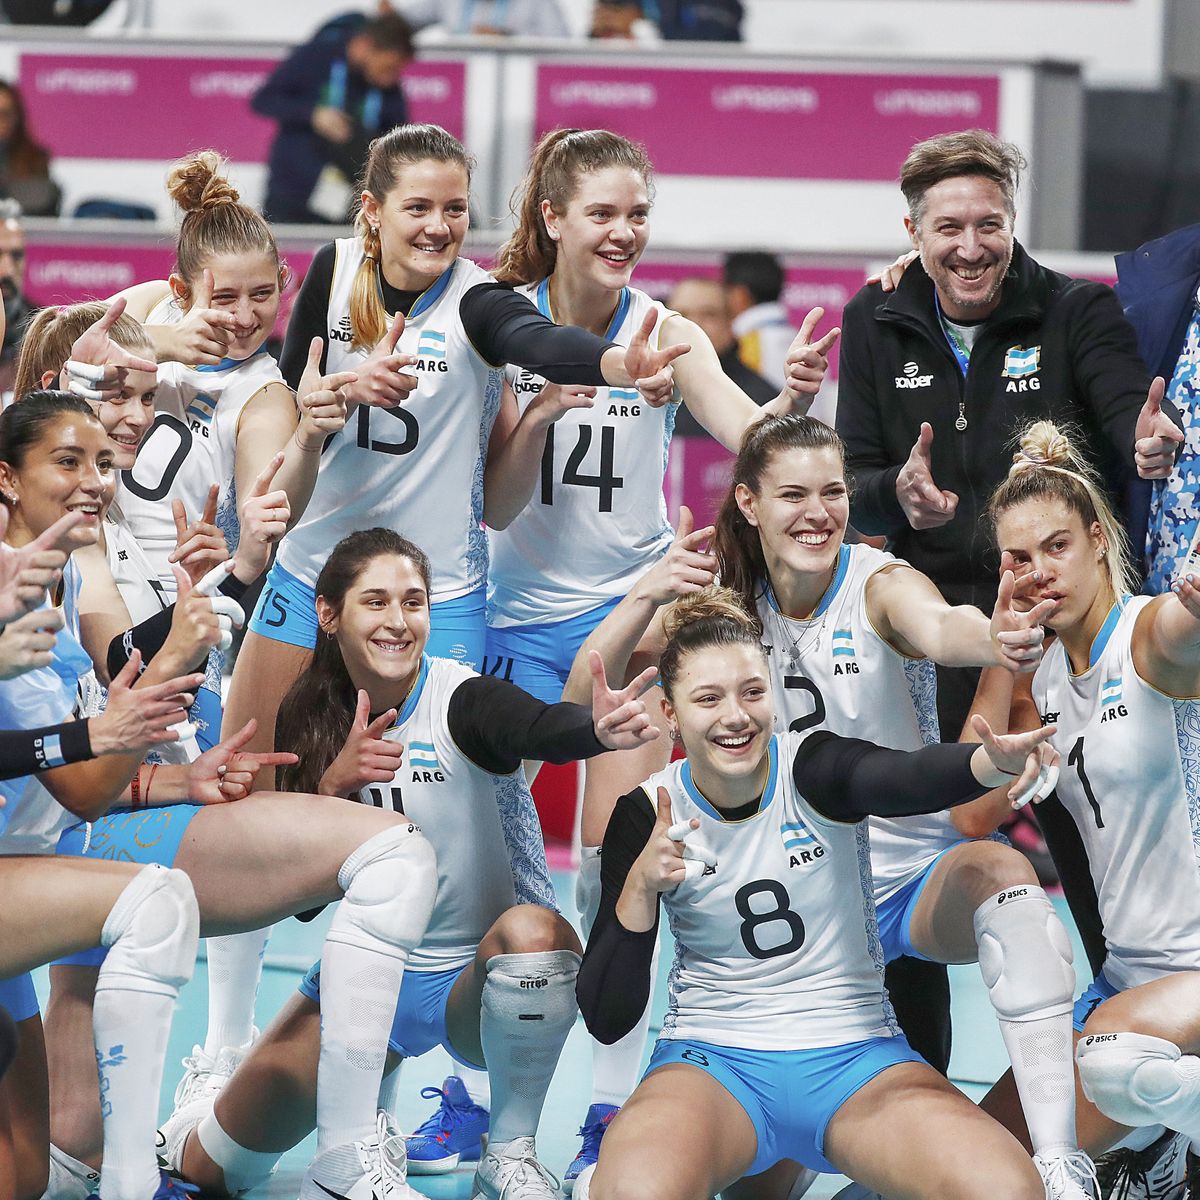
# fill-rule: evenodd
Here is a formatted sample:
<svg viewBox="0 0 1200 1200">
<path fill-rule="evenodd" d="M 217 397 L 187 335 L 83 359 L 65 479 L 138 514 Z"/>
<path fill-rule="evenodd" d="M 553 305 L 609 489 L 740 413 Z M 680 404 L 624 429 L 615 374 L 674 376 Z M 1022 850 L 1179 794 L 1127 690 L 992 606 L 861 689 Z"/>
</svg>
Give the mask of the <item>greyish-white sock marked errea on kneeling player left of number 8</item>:
<svg viewBox="0 0 1200 1200">
<path fill-rule="evenodd" d="M 580 956 L 570 950 L 487 960 L 479 1036 L 492 1080 L 493 1145 L 538 1132 L 551 1078 L 578 1008 Z"/>
</svg>

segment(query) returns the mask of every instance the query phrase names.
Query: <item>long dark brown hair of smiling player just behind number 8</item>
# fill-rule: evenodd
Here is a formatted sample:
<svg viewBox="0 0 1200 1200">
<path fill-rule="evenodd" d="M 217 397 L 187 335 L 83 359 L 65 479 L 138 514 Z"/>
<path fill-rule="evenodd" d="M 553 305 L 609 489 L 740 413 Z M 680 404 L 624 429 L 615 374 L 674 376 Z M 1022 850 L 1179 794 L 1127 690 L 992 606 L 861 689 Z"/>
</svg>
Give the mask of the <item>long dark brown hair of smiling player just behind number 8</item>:
<svg viewBox="0 0 1200 1200">
<path fill-rule="evenodd" d="M 738 484 L 757 496 L 762 476 L 772 460 L 788 450 L 833 450 L 841 460 L 845 472 L 846 446 L 830 426 L 815 416 L 792 413 L 766 416 L 743 434 L 742 448 L 733 463 L 733 479 L 716 516 L 713 553 L 716 556 L 721 582 L 732 588 L 751 612 L 755 611 L 758 593 L 767 581 L 767 560 L 762 553 L 758 530 L 738 508 Z M 851 487 L 852 481 L 846 473 L 847 491 Z"/>
</svg>

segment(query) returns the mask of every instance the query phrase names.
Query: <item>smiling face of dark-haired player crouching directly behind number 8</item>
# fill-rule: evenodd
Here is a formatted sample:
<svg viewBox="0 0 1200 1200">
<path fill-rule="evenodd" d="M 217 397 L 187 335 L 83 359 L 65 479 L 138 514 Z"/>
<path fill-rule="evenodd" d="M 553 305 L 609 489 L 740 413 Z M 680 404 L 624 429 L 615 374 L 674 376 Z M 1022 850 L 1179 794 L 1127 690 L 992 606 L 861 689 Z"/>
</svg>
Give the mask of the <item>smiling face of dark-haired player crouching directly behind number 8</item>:
<svg viewBox="0 0 1200 1200">
<path fill-rule="evenodd" d="M 737 502 L 758 530 L 776 590 L 791 592 L 793 582 L 805 582 L 803 577 L 826 580 L 833 572 L 850 521 L 846 469 L 836 450 L 778 450 L 762 472 L 757 493 L 739 484 Z"/>
</svg>

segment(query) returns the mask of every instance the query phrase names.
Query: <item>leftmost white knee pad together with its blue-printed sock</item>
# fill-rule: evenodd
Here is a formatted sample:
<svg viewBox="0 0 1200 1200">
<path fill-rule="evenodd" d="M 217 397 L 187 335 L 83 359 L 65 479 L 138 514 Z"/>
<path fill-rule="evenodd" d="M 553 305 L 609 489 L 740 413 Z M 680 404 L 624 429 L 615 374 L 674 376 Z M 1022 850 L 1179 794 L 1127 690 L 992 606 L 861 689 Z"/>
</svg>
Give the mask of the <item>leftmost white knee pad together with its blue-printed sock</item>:
<svg viewBox="0 0 1200 1200">
<path fill-rule="evenodd" d="M 101 934 L 92 1033 L 104 1123 L 104 1200 L 146 1200 L 158 1188 L 154 1130 L 179 989 L 196 964 L 199 917 L 181 871 L 144 868 L 118 896 Z"/>
</svg>

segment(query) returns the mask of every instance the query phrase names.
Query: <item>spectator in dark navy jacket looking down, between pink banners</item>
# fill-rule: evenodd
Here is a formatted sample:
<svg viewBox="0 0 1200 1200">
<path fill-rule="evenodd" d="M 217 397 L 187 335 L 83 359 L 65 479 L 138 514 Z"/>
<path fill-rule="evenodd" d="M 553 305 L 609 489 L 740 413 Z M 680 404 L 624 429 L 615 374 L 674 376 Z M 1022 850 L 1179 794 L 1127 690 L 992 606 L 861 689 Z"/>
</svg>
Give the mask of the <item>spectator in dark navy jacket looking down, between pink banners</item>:
<svg viewBox="0 0 1200 1200">
<path fill-rule="evenodd" d="M 251 101 L 280 122 L 263 202 L 269 220 L 349 221 L 371 139 L 408 124 L 400 77 L 412 61 L 413 30 L 403 17 L 350 13 L 323 25 L 271 72 Z"/>
</svg>

